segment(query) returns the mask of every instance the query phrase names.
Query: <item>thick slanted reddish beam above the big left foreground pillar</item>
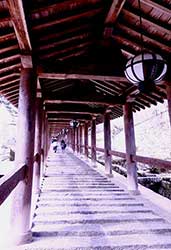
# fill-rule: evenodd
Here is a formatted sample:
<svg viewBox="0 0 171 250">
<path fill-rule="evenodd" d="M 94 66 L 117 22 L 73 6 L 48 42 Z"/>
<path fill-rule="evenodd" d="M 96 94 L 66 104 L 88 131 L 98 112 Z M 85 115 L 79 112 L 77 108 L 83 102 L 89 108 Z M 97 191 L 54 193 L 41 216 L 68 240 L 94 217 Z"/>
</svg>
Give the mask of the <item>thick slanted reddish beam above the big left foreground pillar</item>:
<svg viewBox="0 0 171 250">
<path fill-rule="evenodd" d="M 7 0 L 14 30 L 21 51 L 32 50 L 22 0 Z"/>
</svg>

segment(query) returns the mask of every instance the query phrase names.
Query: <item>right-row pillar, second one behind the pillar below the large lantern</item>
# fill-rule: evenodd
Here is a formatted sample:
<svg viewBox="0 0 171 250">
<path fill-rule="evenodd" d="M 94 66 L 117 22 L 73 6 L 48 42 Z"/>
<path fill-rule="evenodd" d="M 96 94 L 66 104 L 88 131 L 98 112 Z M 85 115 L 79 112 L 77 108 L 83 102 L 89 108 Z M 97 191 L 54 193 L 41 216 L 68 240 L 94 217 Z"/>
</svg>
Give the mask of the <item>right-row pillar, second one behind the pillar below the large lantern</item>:
<svg viewBox="0 0 171 250">
<path fill-rule="evenodd" d="M 96 118 L 93 117 L 91 123 L 91 161 L 96 166 Z"/>
</svg>

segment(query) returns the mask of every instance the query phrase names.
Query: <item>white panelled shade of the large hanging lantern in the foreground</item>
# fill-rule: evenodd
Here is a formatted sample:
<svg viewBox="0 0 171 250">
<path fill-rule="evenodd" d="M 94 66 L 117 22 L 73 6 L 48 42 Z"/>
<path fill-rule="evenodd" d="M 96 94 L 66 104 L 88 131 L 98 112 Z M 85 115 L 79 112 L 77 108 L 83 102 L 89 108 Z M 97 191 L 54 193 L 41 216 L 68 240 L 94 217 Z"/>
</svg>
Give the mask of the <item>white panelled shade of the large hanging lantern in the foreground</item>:
<svg viewBox="0 0 171 250">
<path fill-rule="evenodd" d="M 142 82 L 158 84 L 164 78 L 166 71 L 167 64 L 160 55 L 142 52 L 128 60 L 125 76 L 137 86 Z"/>
</svg>

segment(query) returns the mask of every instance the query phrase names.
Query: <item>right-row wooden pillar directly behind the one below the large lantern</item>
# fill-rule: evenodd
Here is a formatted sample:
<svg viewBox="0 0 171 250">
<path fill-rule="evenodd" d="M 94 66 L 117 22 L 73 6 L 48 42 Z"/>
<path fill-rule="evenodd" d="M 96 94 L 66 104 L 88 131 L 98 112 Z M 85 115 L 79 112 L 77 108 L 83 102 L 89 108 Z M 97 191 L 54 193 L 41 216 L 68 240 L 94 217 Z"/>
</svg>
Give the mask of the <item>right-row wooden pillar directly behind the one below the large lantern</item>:
<svg viewBox="0 0 171 250">
<path fill-rule="evenodd" d="M 105 172 L 108 176 L 112 176 L 112 159 L 109 151 L 111 150 L 111 130 L 110 130 L 110 113 L 104 114 L 104 157 Z"/>
</svg>

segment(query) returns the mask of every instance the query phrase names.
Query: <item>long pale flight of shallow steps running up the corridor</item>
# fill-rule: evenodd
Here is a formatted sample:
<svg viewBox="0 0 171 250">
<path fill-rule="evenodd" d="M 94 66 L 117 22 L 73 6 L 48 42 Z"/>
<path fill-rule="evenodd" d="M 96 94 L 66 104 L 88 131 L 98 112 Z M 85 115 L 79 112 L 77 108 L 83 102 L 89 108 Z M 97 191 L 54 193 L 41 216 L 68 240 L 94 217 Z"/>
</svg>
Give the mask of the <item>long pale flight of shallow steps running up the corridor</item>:
<svg viewBox="0 0 171 250">
<path fill-rule="evenodd" d="M 141 196 L 69 152 L 51 153 L 47 165 L 34 241 L 11 250 L 171 250 L 171 223 Z"/>
</svg>

